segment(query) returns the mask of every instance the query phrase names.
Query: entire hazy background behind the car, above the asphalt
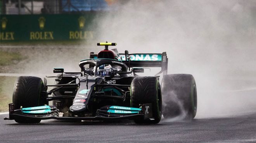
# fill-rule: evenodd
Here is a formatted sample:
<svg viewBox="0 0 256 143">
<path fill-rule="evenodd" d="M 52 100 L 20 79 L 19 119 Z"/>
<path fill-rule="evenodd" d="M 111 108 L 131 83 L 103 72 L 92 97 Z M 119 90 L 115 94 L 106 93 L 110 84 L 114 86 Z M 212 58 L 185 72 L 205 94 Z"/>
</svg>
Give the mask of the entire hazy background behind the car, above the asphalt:
<svg viewBox="0 0 256 143">
<path fill-rule="evenodd" d="M 105 41 L 166 51 L 168 74 L 195 77 L 196 118 L 256 111 L 255 0 L 1 0 L 0 111 L 17 76 L 79 71 Z"/>
</svg>

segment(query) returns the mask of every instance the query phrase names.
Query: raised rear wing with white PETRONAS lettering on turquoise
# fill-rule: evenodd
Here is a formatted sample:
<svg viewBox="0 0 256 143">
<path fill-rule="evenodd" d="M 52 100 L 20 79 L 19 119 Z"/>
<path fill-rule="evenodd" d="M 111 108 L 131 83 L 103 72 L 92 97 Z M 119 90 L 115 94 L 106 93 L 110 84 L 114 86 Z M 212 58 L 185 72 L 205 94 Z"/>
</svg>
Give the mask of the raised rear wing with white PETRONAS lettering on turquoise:
<svg viewBox="0 0 256 143">
<path fill-rule="evenodd" d="M 119 54 L 119 60 L 126 64 L 128 67 L 161 67 L 161 71 L 156 75 L 163 73 L 167 74 L 168 71 L 168 58 L 166 52 L 162 54 Z"/>
</svg>

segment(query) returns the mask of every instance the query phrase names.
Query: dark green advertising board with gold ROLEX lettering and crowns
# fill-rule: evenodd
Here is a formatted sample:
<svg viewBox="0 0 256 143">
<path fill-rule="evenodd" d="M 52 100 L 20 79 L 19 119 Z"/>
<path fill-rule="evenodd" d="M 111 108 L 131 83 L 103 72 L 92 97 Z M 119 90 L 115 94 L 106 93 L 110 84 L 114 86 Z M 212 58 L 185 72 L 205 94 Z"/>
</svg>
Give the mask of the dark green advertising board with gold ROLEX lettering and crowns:
<svg viewBox="0 0 256 143">
<path fill-rule="evenodd" d="M 95 14 L 0 15 L 0 41 L 90 40 Z"/>
</svg>

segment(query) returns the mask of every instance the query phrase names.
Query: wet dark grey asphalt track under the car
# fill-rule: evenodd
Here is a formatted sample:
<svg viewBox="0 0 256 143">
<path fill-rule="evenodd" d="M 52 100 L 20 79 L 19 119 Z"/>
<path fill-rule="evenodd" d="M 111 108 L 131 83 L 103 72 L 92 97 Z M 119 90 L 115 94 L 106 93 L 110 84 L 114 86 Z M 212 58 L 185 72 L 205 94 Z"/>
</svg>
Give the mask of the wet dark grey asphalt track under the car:
<svg viewBox="0 0 256 143">
<path fill-rule="evenodd" d="M 0 142 L 256 142 L 256 112 L 228 118 L 136 125 L 131 121 L 16 124 L 0 115 Z"/>
</svg>

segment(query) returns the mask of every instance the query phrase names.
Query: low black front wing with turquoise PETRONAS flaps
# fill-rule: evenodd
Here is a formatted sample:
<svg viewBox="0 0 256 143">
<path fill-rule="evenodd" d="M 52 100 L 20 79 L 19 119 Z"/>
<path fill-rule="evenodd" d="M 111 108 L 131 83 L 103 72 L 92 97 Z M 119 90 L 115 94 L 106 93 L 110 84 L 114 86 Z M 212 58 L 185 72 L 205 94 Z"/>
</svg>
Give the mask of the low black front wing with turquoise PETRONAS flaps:
<svg viewBox="0 0 256 143">
<path fill-rule="evenodd" d="M 9 118 L 13 119 L 58 119 L 58 120 L 85 120 L 85 121 L 109 121 L 120 119 L 144 118 L 152 120 L 151 104 L 143 104 L 140 108 L 122 106 L 104 106 L 97 110 L 94 117 L 60 117 L 59 109 L 55 106 L 37 106 L 14 110 L 14 104 L 9 104 Z"/>
</svg>

